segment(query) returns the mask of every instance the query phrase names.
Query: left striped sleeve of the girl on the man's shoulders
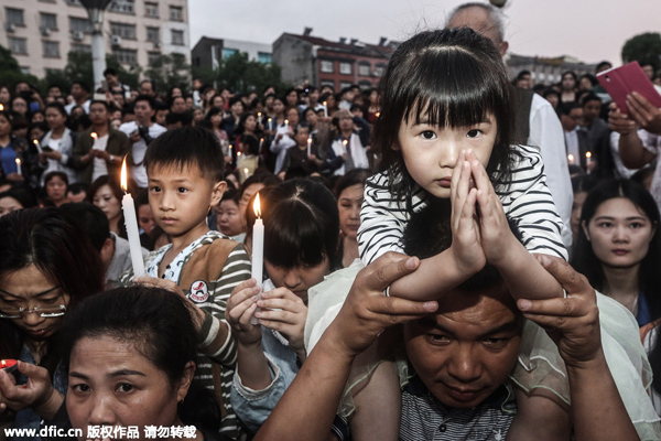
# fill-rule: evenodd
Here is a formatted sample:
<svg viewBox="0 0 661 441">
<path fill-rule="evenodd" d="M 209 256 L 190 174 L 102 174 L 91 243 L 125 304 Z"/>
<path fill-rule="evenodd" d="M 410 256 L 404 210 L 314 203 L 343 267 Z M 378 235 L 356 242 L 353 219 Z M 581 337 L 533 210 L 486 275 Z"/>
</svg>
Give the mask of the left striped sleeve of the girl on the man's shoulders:
<svg viewBox="0 0 661 441">
<path fill-rule="evenodd" d="M 388 251 L 404 252 L 401 239 L 409 220 L 405 208 L 388 190 L 384 173 L 369 178 L 365 184 L 365 200 L 360 209 L 358 249 L 365 265 Z"/>
</svg>

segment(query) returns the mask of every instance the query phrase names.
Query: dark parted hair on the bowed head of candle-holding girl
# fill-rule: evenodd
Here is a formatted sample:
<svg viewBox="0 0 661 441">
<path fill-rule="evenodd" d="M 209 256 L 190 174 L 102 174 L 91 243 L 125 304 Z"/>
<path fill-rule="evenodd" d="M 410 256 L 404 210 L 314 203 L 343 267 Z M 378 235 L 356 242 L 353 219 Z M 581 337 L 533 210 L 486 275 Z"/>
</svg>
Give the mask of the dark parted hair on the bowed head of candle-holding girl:
<svg viewBox="0 0 661 441">
<path fill-rule="evenodd" d="M 264 259 L 281 268 L 316 266 L 328 258 L 340 268 L 337 202 L 323 184 L 294 179 L 262 200 Z"/>
</svg>

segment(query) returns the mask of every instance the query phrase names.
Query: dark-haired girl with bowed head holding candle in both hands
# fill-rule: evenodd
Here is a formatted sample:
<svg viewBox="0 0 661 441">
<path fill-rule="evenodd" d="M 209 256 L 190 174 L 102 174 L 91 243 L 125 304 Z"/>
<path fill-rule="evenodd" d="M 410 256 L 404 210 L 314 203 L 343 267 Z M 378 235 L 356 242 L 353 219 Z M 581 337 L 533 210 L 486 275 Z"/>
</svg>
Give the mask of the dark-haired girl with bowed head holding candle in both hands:
<svg viewBox="0 0 661 441">
<path fill-rule="evenodd" d="M 238 284 L 225 316 L 238 343 L 231 402 L 257 431 L 306 358 L 307 290 L 339 267 L 339 215 L 319 183 L 286 181 L 260 192 L 264 224 L 262 300 L 253 279 Z M 259 280 L 261 282 L 261 280 Z M 261 326 L 250 323 L 252 316 Z"/>
</svg>

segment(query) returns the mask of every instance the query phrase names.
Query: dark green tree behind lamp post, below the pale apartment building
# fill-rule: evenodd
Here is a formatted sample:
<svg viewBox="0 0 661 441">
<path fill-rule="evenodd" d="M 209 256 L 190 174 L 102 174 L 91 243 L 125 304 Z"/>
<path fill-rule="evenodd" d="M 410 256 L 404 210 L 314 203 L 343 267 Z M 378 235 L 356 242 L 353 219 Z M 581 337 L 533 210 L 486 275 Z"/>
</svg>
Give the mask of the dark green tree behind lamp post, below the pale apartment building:
<svg viewBox="0 0 661 441">
<path fill-rule="evenodd" d="M 120 83 L 127 84 L 131 88 L 138 87 L 140 66 L 126 68 L 112 54 L 106 54 L 106 66 L 117 71 Z M 44 77 L 46 86 L 57 85 L 64 90 L 68 90 L 73 82 L 85 82 L 90 87 L 94 85 L 94 71 L 89 52 L 71 51 L 66 56 L 64 71 L 47 71 Z"/>
</svg>

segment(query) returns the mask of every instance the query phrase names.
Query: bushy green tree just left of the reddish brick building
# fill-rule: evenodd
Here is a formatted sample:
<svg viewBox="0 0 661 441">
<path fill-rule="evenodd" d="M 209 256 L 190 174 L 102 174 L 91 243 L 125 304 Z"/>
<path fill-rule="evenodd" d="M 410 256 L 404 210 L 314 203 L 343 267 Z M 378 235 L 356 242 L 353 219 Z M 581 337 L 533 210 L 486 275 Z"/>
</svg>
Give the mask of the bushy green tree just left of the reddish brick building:
<svg viewBox="0 0 661 441">
<path fill-rule="evenodd" d="M 247 53 L 237 52 L 220 61 L 216 71 L 196 69 L 194 75 L 207 84 L 217 84 L 239 94 L 261 92 L 267 86 L 282 90 L 282 72 L 277 64 L 248 60 Z"/>
</svg>

